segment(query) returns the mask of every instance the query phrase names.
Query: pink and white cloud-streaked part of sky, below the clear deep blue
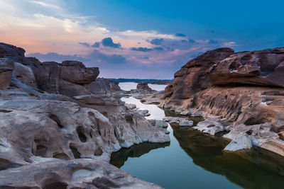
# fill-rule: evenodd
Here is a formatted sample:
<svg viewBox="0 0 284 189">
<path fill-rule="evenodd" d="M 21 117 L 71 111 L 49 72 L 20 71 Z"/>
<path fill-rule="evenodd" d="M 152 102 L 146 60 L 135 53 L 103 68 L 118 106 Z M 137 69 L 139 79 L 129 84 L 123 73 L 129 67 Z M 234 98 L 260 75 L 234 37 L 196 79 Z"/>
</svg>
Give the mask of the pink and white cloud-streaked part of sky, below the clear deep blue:
<svg viewBox="0 0 284 189">
<path fill-rule="evenodd" d="M 82 61 L 103 70 L 100 76 L 137 76 L 141 71 L 141 77 L 155 74 L 153 77 L 163 79 L 171 78 L 195 55 L 237 45 L 219 38 L 197 39 L 157 30 L 111 30 L 92 16 L 69 11 L 67 3 L 0 0 L 0 41 L 23 47 L 41 61 Z"/>
</svg>

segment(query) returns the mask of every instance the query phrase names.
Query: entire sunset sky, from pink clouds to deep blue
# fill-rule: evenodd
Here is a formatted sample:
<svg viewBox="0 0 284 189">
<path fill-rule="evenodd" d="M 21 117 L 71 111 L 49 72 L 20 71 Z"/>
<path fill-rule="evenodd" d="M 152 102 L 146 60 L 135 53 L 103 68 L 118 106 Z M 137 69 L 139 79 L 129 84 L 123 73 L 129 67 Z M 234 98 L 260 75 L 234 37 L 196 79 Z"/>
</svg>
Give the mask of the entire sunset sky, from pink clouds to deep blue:
<svg viewBox="0 0 284 189">
<path fill-rule="evenodd" d="M 218 47 L 284 46 L 284 1 L 0 0 L 0 42 L 101 77 L 172 79 Z"/>
</svg>

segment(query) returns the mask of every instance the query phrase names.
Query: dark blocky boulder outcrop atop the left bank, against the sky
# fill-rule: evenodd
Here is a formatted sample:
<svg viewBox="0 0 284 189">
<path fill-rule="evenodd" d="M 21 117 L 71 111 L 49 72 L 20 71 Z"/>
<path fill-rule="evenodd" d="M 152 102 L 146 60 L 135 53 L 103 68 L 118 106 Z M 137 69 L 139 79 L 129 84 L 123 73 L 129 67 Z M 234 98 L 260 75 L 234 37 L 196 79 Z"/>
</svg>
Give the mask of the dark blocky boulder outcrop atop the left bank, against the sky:
<svg viewBox="0 0 284 189">
<path fill-rule="evenodd" d="M 84 68 L 82 62 L 71 61 L 64 64 L 43 62 L 34 70 L 40 90 L 70 97 L 89 95 L 90 92 L 82 84 L 89 84 L 99 74 L 98 68 Z"/>
</svg>

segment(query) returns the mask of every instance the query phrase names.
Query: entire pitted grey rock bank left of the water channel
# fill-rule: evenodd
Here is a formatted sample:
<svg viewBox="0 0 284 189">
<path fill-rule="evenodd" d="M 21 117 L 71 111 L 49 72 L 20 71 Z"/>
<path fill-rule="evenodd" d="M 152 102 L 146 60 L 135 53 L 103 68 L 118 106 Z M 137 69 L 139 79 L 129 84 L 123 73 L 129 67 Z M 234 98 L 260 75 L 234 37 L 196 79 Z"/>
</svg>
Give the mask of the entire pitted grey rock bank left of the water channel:
<svg viewBox="0 0 284 189">
<path fill-rule="evenodd" d="M 24 53 L 0 43 L 0 188 L 159 188 L 108 161 L 168 135 L 126 108 L 117 84 L 96 80 L 98 68 Z"/>
</svg>

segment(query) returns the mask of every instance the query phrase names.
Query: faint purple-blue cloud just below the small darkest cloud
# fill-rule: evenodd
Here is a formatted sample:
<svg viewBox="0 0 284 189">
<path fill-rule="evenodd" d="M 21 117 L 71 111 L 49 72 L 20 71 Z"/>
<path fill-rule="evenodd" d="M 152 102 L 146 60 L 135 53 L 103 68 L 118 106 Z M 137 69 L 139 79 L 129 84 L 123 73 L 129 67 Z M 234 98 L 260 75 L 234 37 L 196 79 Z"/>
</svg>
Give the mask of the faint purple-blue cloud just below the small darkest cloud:
<svg viewBox="0 0 284 189">
<path fill-rule="evenodd" d="M 123 64 L 126 60 L 125 57 L 121 55 L 106 55 L 99 50 L 93 50 L 89 55 L 89 59 L 94 59 L 95 62 L 104 63 L 104 64 Z"/>
</svg>

